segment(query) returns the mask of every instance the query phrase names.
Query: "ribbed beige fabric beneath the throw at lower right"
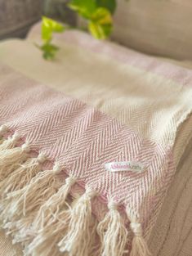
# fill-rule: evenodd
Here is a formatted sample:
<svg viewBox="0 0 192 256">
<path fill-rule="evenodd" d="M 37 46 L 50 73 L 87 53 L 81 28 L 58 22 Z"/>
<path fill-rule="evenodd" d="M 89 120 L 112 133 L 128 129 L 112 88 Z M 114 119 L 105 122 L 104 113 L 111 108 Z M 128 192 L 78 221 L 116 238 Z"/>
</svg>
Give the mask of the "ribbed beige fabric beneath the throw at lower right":
<svg viewBox="0 0 192 256">
<path fill-rule="evenodd" d="M 192 252 L 192 141 L 177 167 L 158 220 L 151 233 L 153 256 L 191 256 Z"/>
</svg>

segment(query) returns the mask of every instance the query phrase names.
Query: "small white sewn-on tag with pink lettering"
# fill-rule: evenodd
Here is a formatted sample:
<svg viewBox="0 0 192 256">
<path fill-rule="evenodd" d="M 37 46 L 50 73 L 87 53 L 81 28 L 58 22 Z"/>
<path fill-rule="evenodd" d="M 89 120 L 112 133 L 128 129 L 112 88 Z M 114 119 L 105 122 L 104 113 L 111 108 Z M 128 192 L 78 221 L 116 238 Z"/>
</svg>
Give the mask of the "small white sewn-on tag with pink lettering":
<svg viewBox="0 0 192 256">
<path fill-rule="evenodd" d="M 105 164 L 105 169 L 110 172 L 134 172 L 142 173 L 145 171 L 145 165 L 141 162 L 126 161 L 126 162 L 111 162 Z"/>
</svg>

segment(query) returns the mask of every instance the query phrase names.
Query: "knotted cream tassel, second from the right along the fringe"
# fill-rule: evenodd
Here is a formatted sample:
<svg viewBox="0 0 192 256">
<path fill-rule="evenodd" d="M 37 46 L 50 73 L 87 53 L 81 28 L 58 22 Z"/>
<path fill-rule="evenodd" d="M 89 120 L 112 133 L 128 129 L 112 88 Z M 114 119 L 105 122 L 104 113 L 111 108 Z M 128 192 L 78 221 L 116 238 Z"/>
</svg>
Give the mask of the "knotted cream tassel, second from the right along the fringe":
<svg viewBox="0 0 192 256">
<path fill-rule="evenodd" d="M 102 256 L 123 256 L 127 253 L 127 229 L 118 212 L 118 205 L 109 201 L 109 212 L 97 227 L 102 243 Z"/>
</svg>

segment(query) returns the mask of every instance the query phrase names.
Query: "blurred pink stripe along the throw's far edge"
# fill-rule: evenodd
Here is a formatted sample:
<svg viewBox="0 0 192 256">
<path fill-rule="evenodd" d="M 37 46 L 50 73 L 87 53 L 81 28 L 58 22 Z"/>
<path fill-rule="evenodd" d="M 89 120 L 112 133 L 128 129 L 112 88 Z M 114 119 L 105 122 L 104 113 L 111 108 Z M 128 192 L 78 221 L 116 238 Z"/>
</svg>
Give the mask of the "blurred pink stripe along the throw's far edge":
<svg viewBox="0 0 192 256">
<path fill-rule="evenodd" d="M 64 42 L 73 43 L 75 46 L 89 49 L 92 52 L 105 54 L 123 64 L 132 65 L 147 72 L 159 74 L 176 83 L 192 85 L 192 70 L 168 63 L 167 61 L 161 61 L 158 57 L 147 56 L 112 42 L 101 42 L 92 38 L 89 34 L 79 31 L 57 34 L 56 37 Z"/>
</svg>

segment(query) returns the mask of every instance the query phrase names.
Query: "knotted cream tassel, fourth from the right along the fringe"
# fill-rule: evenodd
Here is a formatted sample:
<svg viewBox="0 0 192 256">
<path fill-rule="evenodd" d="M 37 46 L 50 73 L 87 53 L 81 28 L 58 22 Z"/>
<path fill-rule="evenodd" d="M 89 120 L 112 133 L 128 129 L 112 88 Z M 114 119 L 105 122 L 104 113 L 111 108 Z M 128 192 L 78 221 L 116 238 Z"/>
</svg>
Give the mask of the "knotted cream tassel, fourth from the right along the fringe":
<svg viewBox="0 0 192 256">
<path fill-rule="evenodd" d="M 45 204 L 42 204 L 36 218 L 33 221 L 33 230 L 41 231 L 45 226 L 51 225 L 54 222 L 66 203 L 67 195 L 71 186 L 76 182 L 76 177 L 67 177 L 65 185 L 60 186 L 56 194 L 52 195 Z"/>
</svg>

